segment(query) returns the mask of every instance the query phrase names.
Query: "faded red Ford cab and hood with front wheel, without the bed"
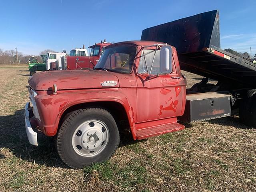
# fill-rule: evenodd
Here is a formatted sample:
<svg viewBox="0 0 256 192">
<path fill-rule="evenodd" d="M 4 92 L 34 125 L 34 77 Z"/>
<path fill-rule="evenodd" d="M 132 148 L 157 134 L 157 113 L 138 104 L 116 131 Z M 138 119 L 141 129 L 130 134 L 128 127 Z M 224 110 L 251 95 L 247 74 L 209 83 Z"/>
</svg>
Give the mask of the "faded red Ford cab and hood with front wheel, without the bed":
<svg viewBox="0 0 256 192">
<path fill-rule="evenodd" d="M 110 157 L 122 121 L 134 140 L 184 128 L 177 116 L 184 113 L 186 79 L 176 49 L 161 42 L 111 44 L 94 70 L 35 74 L 29 86 L 25 121 L 30 143 L 38 145 L 35 126 L 56 136 L 60 157 L 72 168 Z"/>
</svg>

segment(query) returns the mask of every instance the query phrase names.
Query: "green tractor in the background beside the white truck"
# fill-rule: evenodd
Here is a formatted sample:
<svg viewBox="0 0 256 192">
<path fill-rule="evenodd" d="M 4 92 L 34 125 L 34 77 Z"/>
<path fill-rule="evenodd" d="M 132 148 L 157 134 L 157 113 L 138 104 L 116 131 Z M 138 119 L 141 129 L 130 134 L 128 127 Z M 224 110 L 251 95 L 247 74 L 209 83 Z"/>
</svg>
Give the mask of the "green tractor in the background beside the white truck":
<svg viewBox="0 0 256 192">
<path fill-rule="evenodd" d="M 32 56 L 28 59 L 28 70 L 29 75 L 32 76 L 36 73 L 36 71 L 46 71 L 46 58 L 47 55 L 40 55 L 42 58 L 43 63 L 39 63 L 35 56 Z"/>
</svg>

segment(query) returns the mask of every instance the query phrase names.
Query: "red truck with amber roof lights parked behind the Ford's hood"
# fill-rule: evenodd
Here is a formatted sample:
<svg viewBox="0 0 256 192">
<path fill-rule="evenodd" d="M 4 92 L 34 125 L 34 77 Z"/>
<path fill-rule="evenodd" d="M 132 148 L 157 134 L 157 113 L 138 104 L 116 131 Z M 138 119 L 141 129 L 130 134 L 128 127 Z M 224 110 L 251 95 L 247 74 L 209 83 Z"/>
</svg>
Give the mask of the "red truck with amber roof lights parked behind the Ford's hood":
<svg viewBox="0 0 256 192">
<path fill-rule="evenodd" d="M 106 46 L 110 44 L 106 40 L 95 43 L 89 47 L 91 49 L 89 56 L 74 55 L 70 52 L 70 56 L 63 56 L 61 58 L 61 70 L 92 69 L 97 64 Z"/>
</svg>

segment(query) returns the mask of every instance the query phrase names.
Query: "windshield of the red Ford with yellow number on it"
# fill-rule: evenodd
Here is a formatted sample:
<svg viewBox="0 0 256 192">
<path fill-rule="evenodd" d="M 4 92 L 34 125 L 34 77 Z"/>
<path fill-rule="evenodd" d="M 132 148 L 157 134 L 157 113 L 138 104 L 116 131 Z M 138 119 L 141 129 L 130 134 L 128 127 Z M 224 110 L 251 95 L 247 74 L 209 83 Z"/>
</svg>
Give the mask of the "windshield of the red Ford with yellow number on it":
<svg viewBox="0 0 256 192">
<path fill-rule="evenodd" d="M 108 48 L 102 54 L 95 69 L 104 68 L 114 72 L 130 73 L 135 54 L 136 48 L 134 46 Z"/>
</svg>

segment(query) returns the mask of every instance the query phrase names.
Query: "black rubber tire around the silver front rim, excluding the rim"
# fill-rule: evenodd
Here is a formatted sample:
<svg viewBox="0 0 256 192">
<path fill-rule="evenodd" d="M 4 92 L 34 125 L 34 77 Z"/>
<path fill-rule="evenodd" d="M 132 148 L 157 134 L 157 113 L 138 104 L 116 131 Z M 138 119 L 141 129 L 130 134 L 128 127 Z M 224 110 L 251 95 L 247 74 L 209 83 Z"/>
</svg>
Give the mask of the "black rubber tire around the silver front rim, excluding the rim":
<svg viewBox="0 0 256 192">
<path fill-rule="evenodd" d="M 109 132 L 109 139 L 105 148 L 93 157 L 79 155 L 72 146 L 74 132 L 82 123 L 88 120 L 104 122 Z M 77 169 L 109 159 L 118 148 L 119 142 L 118 127 L 110 112 L 101 108 L 87 108 L 68 114 L 58 131 L 56 148 L 62 161 L 71 168 Z"/>
</svg>

